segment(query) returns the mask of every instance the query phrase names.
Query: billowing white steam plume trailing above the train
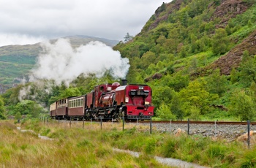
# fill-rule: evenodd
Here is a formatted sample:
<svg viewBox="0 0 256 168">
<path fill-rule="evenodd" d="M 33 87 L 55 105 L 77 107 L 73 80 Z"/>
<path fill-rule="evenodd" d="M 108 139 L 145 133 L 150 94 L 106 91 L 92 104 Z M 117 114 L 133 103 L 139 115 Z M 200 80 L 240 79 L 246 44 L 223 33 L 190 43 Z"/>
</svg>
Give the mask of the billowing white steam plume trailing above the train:
<svg viewBox="0 0 256 168">
<path fill-rule="evenodd" d="M 118 51 L 102 42 L 89 42 L 73 49 L 67 39 L 59 39 L 55 44 L 41 44 L 37 68 L 33 69 L 30 80 L 54 80 L 57 85 L 69 85 L 79 75 L 96 74 L 101 77 L 106 70 L 113 77 L 124 78 L 129 70 L 129 59 L 121 58 Z"/>
</svg>

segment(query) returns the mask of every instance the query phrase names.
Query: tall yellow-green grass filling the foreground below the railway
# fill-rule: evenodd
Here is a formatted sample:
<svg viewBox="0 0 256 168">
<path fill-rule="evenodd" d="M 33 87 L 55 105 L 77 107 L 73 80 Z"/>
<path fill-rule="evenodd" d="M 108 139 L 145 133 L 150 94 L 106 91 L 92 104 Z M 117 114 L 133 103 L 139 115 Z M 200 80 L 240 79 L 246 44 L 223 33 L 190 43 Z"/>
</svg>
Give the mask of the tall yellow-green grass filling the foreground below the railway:
<svg viewBox="0 0 256 168">
<path fill-rule="evenodd" d="M 1 167 L 167 167 L 154 156 L 171 157 L 207 167 L 255 167 L 256 148 L 240 142 L 213 141 L 200 135 L 152 134 L 136 123 L 40 123 L 26 121 L 21 132 L 12 121 L 0 121 Z M 153 128 L 155 129 L 155 128 Z M 37 133 L 55 140 L 41 140 Z M 112 148 L 140 152 L 135 158 Z"/>
</svg>

